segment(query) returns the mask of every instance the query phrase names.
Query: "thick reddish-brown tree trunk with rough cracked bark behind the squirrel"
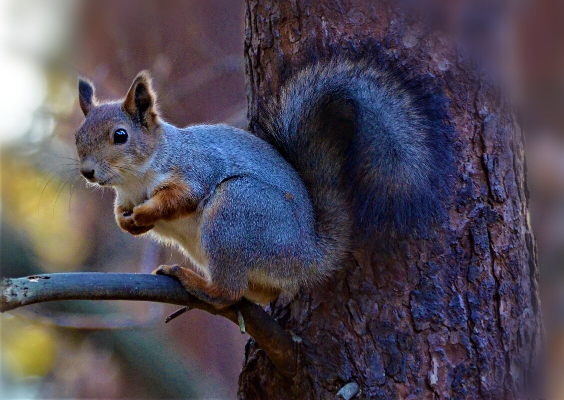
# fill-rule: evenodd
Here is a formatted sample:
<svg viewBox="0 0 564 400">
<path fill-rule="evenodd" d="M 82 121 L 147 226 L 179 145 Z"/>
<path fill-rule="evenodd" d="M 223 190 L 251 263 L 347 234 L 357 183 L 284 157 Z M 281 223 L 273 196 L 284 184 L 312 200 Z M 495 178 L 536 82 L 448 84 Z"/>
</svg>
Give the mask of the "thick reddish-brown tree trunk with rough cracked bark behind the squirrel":
<svg viewBox="0 0 564 400">
<path fill-rule="evenodd" d="M 450 221 L 432 239 L 383 256 L 358 249 L 327 284 L 272 314 L 303 340 L 288 383 L 252 341 L 241 399 L 501 399 L 521 392 L 541 340 L 535 239 L 521 131 L 496 85 L 456 42 L 384 2 L 246 1 L 249 114 L 280 73 L 331 45 L 378 42 L 391 58 L 443 80 L 452 99 L 456 166 Z M 398 61 L 400 62 L 400 61 Z M 251 127 L 252 128 L 252 127 Z"/>
</svg>

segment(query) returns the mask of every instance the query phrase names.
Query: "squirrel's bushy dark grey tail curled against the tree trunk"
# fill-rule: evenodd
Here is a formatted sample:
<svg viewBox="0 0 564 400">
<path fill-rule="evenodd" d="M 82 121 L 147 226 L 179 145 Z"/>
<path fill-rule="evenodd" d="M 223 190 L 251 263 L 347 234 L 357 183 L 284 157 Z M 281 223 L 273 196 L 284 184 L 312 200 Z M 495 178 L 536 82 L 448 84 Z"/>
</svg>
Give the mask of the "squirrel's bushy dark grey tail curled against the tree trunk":
<svg viewBox="0 0 564 400">
<path fill-rule="evenodd" d="M 446 120 L 444 96 L 421 80 L 336 57 L 290 78 L 252 124 L 301 174 L 336 243 L 411 236 L 446 215 Z"/>
</svg>

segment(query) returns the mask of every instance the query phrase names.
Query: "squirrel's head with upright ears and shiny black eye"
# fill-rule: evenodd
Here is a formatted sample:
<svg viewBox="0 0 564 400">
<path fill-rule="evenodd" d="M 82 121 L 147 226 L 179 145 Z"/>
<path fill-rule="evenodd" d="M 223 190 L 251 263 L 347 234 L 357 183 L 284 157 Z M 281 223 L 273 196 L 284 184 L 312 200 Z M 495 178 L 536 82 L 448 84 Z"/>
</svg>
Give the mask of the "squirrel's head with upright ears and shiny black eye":
<svg viewBox="0 0 564 400">
<path fill-rule="evenodd" d="M 122 100 L 98 102 L 92 82 L 78 80 L 86 119 L 76 131 L 80 173 L 100 186 L 142 179 L 161 135 L 151 76 L 140 72 Z"/>
</svg>

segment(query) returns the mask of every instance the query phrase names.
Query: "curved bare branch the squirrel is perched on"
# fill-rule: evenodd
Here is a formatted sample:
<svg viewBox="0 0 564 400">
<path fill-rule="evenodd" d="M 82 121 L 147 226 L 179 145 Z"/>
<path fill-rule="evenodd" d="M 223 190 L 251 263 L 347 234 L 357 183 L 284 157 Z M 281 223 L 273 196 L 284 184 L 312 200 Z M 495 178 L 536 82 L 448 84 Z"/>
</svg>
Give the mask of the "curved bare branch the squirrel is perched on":
<svg viewBox="0 0 564 400">
<path fill-rule="evenodd" d="M 0 285 L 0 312 L 54 300 L 138 300 L 176 304 L 221 315 L 239 325 L 233 307 L 217 310 L 188 293 L 170 276 L 103 272 L 70 272 L 27 278 L 4 278 Z M 234 307 L 246 331 L 261 346 L 276 369 L 286 377 L 297 372 L 297 351 L 291 335 L 260 306 L 241 300 Z"/>
</svg>

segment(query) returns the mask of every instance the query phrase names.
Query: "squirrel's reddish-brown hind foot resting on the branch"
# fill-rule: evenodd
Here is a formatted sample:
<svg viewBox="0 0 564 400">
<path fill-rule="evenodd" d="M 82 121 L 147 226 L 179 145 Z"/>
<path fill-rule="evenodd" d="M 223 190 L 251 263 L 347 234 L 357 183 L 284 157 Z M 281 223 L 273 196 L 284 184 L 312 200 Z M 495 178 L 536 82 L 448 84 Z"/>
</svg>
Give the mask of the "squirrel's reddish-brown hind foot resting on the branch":
<svg viewBox="0 0 564 400">
<path fill-rule="evenodd" d="M 243 293 L 230 291 L 218 284 L 210 283 L 191 269 L 179 265 L 161 265 L 153 274 L 167 275 L 178 279 L 186 291 L 217 309 L 231 306 L 241 300 Z"/>
</svg>

